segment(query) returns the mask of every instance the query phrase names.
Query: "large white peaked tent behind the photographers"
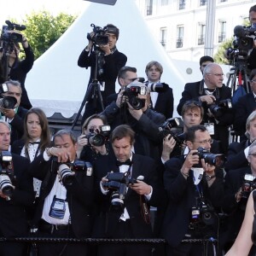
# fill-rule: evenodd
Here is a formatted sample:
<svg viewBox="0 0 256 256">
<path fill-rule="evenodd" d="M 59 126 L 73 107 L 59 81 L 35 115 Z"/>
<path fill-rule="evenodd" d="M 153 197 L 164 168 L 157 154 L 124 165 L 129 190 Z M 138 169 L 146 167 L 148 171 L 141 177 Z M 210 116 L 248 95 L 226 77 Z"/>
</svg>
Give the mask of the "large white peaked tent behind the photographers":
<svg viewBox="0 0 256 256">
<path fill-rule="evenodd" d="M 88 43 L 86 34 L 91 31 L 91 23 L 102 27 L 112 23 L 119 27 L 117 48 L 127 55 L 127 66 L 137 67 L 139 77 L 145 77 L 144 70 L 149 61 L 159 61 L 164 67 L 161 80 L 172 87 L 177 105 L 183 86 L 191 77 L 177 69 L 181 66 L 171 61 L 165 49 L 152 37 L 136 3 L 133 0 L 119 0 L 114 6 L 90 3 L 67 32 L 35 61 L 26 79 L 26 90 L 33 107 L 44 109 L 48 117 L 53 113 L 71 117 L 78 112 L 90 70 L 78 67 L 77 61 Z M 201 79 L 199 64 L 193 63 L 192 66 L 198 73 L 198 79 Z M 119 84 L 116 83 L 118 89 Z"/>
</svg>

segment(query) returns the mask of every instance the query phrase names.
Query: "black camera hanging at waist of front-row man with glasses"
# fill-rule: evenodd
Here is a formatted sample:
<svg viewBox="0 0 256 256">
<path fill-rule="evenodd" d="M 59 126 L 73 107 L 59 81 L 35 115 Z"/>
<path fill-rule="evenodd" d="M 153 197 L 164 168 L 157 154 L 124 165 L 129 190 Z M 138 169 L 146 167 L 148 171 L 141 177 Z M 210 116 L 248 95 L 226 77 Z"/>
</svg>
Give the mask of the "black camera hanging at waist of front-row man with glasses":
<svg viewBox="0 0 256 256">
<path fill-rule="evenodd" d="M 212 225 L 215 221 L 215 212 L 213 207 L 208 204 L 204 198 L 199 198 L 196 207 L 191 209 L 190 225 L 198 229 L 204 225 Z"/>
</svg>

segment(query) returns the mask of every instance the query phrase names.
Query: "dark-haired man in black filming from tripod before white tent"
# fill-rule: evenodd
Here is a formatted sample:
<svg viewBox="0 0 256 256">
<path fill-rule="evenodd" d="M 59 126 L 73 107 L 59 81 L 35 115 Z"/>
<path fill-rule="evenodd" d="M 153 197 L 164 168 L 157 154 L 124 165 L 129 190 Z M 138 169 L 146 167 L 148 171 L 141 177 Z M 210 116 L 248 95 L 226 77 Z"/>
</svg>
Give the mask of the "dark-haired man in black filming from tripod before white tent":
<svg viewBox="0 0 256 256">
<path fill-rule="evenodd" d="M 97 45 L 97 35 L 107 36 L 108 44 L 100 43 Z M 79 55 L 78 65 L 79 67 L 85 67 L 86 69 L 90 67 L 90 80 L 87 92 L 88 90 L 91 92 L 93 91 L 90 84 L 96 79 L 97 82 L 100 83 L 102 103 L 103 107 L 105 107 L 107 96 L 115 93 L 115 81 L 119 69 L 125 66 L 127 57 L 116 48 L 116 43 L 119 38 L 119 28 L 112 24 L 104 26 L 103 29 L 94 26 L 94 31 L 90 32 L 90 35 L 87 38 L 89 43 Z M 98 58 L 97 63 L 96 55 Z M 89 95 L 91 96 L 91 93 Z M 93 99 L 89 99 L 85 106 L 83 121 L 94 113 L 102 112 L 101 102 L 99 102 L 98 98 L 96 104 L 95 108 L 95 106 L 93 106 Z"/>
</svg>

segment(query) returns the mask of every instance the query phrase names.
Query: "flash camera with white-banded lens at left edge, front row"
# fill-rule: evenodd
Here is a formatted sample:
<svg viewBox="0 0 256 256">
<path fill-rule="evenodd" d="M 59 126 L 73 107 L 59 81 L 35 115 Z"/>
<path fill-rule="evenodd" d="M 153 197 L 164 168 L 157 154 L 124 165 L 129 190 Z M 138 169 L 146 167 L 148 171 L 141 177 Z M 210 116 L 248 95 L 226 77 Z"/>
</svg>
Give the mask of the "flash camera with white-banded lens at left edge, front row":
<svg viewBox="0 0 256 256">
<path fill-rule="evenodd" d="M 9 151 L 2 151 L 0 154 L 0 190 L 3 195 L 11 196 L 14 191 L 12 181 L 15 180 L 12 165 L 12 155 Z"/>
</svg>

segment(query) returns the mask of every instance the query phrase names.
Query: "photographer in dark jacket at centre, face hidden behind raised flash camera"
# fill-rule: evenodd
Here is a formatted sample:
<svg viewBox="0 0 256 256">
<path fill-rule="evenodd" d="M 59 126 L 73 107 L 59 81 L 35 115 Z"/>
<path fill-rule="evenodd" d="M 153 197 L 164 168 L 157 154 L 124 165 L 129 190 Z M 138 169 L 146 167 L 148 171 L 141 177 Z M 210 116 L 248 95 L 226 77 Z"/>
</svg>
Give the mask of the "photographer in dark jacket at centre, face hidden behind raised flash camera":
<svg viewBox="0 0 256 256">
<path fill-rule="evenodd" d="M 140 92 L 132 93 L 131 90 Z M 130 125 L 136 132 L 135 153 L 159 160 L 158 128 L 164 123 L 165 117 L 149 108 L 150 96 L 146 90 L 144 84 L 132 82 L 119 92 L 116 102 L 110 103 L 101 115 L 105 116 L 113 129 L 122 124 Z"/>
</svg>

